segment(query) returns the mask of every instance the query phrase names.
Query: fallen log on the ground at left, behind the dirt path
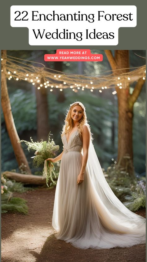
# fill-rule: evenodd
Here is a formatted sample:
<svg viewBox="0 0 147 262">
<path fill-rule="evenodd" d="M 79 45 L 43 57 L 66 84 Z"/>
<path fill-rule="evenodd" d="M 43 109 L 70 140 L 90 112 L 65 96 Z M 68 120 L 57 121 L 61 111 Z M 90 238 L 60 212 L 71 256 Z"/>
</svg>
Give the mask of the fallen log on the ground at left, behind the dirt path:
<svg viewBox="0 0 147 262">
<path fill-rule="evenodd" d="M 42 179 L 41 175 L 24 175 L 20 173 L 5 171 L 3 173 L 9 179 L 14 179 L 16 182 L 22 182 L 25 184 L 35 184 L 35 185 L 44 185 L 46 184 L 46 179 Z"/>
</svg>

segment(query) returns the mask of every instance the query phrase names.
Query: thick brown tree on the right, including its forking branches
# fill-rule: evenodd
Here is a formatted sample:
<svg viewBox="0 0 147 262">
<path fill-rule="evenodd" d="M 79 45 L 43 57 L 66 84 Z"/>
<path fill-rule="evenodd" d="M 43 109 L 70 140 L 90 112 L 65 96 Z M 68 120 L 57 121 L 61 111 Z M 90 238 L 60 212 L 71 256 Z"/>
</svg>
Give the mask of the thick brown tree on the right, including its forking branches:
<svg viewBox="0 0 147 262">
<path fill-rule="evenodd" d="M 129 72 L 129 51 L 128 50 L 115 50 L 113 56 L 111 50 L 105 50 L 110 66 L 114 75 Z M 122 70 L 118 70 L 122 69 Z M 133 105 L 137 100 L 145 80 L 140 78 L 136 83 L 133 93 L 130 94 L 130 85 L 122 82 L 122 89 L 116 87 L 118 96 L 118 161 L 125 167 L 126 161 L 123 158 L 129 155 L 131 158 L 128 171 L 130 174 L 134 173 L 133 170 L 133 146 L 132 146 L 132 122 L 133 122 Z"/>
</svg>

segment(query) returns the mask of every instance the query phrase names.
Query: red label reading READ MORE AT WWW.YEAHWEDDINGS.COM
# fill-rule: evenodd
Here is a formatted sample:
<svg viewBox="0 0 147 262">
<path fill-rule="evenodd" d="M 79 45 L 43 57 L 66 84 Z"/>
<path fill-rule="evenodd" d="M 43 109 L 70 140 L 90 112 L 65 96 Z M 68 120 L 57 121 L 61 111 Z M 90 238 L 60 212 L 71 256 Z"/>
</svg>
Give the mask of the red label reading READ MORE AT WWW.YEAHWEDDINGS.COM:
<svg viewBox="0 0 147 262">
<path fill-rule="evenodd" d="M 91 54 L 90 49 L 57 49 L 56 54 L 45 54 L 44 61 L 103 61 L 102 54 Z"/>
</svg>

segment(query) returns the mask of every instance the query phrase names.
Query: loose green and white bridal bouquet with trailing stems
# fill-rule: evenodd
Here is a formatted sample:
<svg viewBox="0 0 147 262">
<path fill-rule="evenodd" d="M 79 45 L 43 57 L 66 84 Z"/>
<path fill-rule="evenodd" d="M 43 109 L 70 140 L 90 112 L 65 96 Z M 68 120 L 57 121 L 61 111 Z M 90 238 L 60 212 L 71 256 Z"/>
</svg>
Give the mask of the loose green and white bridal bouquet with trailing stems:
<svg viewBox="0 0 147 262">
<path fill-rule="evenodd" d="M 59 150 L 59 146 L 55 145 L 55 142 L 53 139 L 50 139 L 50 136 L 48 136 L 47 141 L 41 140 L 41 142 L 33 142 L 33 139 L 31 139 L 31 142 L 20 140 L 18 143 L 24 142 L 28 146 L 28 151 L 30 149 L 34 150 L 34 157 L 33 158 L 33 166 L 38 167 L 41 164 L 44 164 L 44 168 L 42 171 L 43 178 L 46 178 L 46 183 L 48 186 L 49 178 L 53 183 L 55 181 L 53 180 L 52 174 L 56 178 L 56 172 L 55 167 L 51 161 L 47 161 L 47 158 L 54 158 L 56 156 L 57 151 Z M 56 184 L 56 183 L 55 183 Z"/>
</svg>

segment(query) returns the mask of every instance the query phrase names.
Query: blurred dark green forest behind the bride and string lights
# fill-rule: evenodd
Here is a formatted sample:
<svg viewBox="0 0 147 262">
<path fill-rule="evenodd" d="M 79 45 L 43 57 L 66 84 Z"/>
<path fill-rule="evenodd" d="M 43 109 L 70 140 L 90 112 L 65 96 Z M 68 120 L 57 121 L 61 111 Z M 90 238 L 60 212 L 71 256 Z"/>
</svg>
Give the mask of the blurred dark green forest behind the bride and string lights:
<svg viewBox="0 0 147 262">
<path fill-rule="evenodd" d="M 53 54 L 54 50 L 7 50 L 7 55 L 43 63 L 47 68 L 62 71 L 69 74 L 86 74 L 99 76 L 104 71 L 111 70 L 108 59 L 103 50 L 96 50 L 94 53 L 103 54 L 103 62 L 44 62 L 44 54 Z M 112 51 L 113 53 L 113 51 Z M 30 62 L 31 63 L 31 62 Z M 145 64 L 144 50 L 129 51 L 130 68 L 142 66 Z M 11 102 L 12 114 L 20 139 L 30 141 L 40 141 L 47 139 L 51 131 L 51 138 L 62 151 L 62 142 L 60 131 L 64 124 L 65 113 L 69 104 L 74 101 L 81 101 L 87 112 L 87 118 L 93 133 L 94 146 L 99 158 L 100 164 L 107 169 L 117 159 L 118 151 L 118 101 L 117 95 L 113 95 L 112 89 L 94 90 L 89 89 L 77 92 L 72 89 L 59 89 L 50 92 L 46 89 L 44 101 L 46 112 L 39 112 L 39 101 L 42 100 L 41 90 L 37 90 L 31 83 L 24 81 L 7 81 L 8 92 Z M 130 93 L 133 91 L 135 84 L 131 84 Z M 42 114 L 42 122 L 38 125 L 38 114 Z M 134 104 L 133 110 L 133 162 L 136 174 L 145 175 L 145 85 Z M 47 116 L 47 118 L 45 118 Z M 42 133 L 43 130 L 43 133 Z M 22 144 L 23 148 L 26 146 Z M 30 154 L 24 150 L 30 169 L 33 174 L 37 170 L 32 167 L 33 153 Z M 18 164 L 15 159 L 13 148 L 2 113 L 2 171 L 18 171 Z M 38 169 L 38 171 L 41 171 Z"/>
</svg>

